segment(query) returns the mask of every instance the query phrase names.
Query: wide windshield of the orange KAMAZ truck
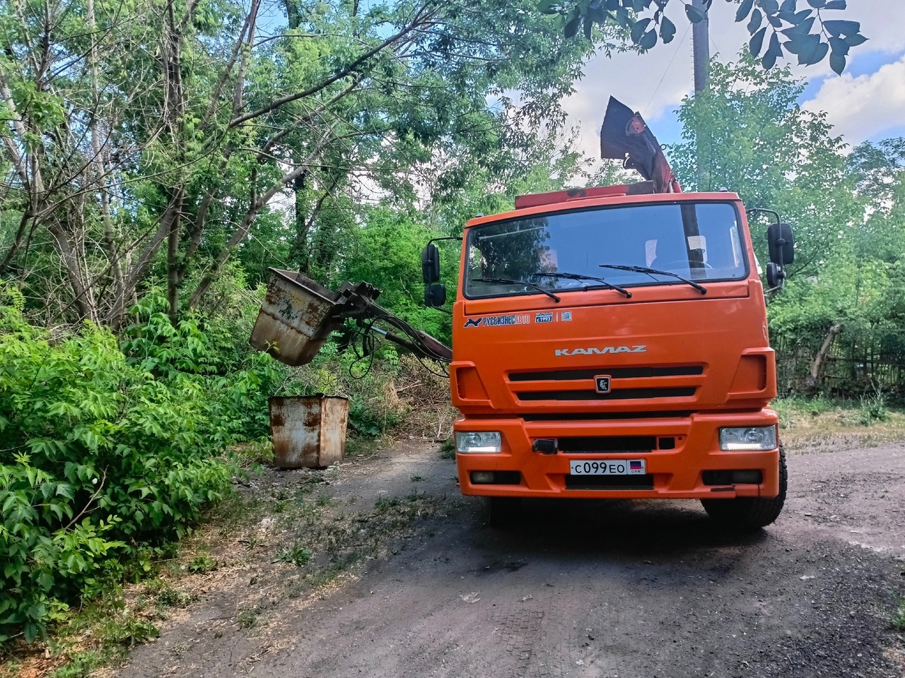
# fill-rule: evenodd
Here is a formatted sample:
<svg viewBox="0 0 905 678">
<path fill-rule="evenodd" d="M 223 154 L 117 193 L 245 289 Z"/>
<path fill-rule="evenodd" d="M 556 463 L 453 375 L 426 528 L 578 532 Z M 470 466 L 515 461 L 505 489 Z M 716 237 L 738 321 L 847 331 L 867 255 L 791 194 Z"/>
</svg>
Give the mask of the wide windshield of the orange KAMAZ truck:
<svg viewBox="0 0 905 678">
<path fill-rule="evenodd" d="M 680 202 L 540 214 L 469 231 L 465 297 L 506 297 L 748 276 L 729 202 Z M 615 267 L 615 268 L 614 268 Z M 620 267 L 643 267 L 673 276 Z"/>
</svg>

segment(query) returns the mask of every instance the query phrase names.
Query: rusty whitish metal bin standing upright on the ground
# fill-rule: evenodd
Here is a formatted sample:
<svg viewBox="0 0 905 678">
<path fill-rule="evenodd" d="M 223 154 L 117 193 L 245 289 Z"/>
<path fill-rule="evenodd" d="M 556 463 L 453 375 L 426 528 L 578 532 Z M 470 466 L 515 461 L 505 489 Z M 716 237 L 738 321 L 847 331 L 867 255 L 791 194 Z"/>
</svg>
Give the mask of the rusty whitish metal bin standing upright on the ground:
<svg viewBox="0 0 905 678">
<path fill-rule="evenodd" d="M 271 396 L 273 462 L 282 468 L 320 468 L 346 452 L 348 398 Z"/>
</svg>

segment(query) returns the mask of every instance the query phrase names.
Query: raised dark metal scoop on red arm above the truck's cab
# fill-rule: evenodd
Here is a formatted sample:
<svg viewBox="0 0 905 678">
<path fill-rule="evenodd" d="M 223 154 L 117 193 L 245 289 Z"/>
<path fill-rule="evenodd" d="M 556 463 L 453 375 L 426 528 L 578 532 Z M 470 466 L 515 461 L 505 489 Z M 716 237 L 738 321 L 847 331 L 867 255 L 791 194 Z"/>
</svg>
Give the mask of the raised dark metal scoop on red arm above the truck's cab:
<svg viewBox="0 0 905 678">
<path fill-rule="evenodd" d="M 622 160 L 625 169 L 633 169 L 653 182 L 653 193 L 681 193 L 660 142 L 644 118 L 614 97 L 610 97 L 600 128 L 600 157 Z"/>
</svg>

